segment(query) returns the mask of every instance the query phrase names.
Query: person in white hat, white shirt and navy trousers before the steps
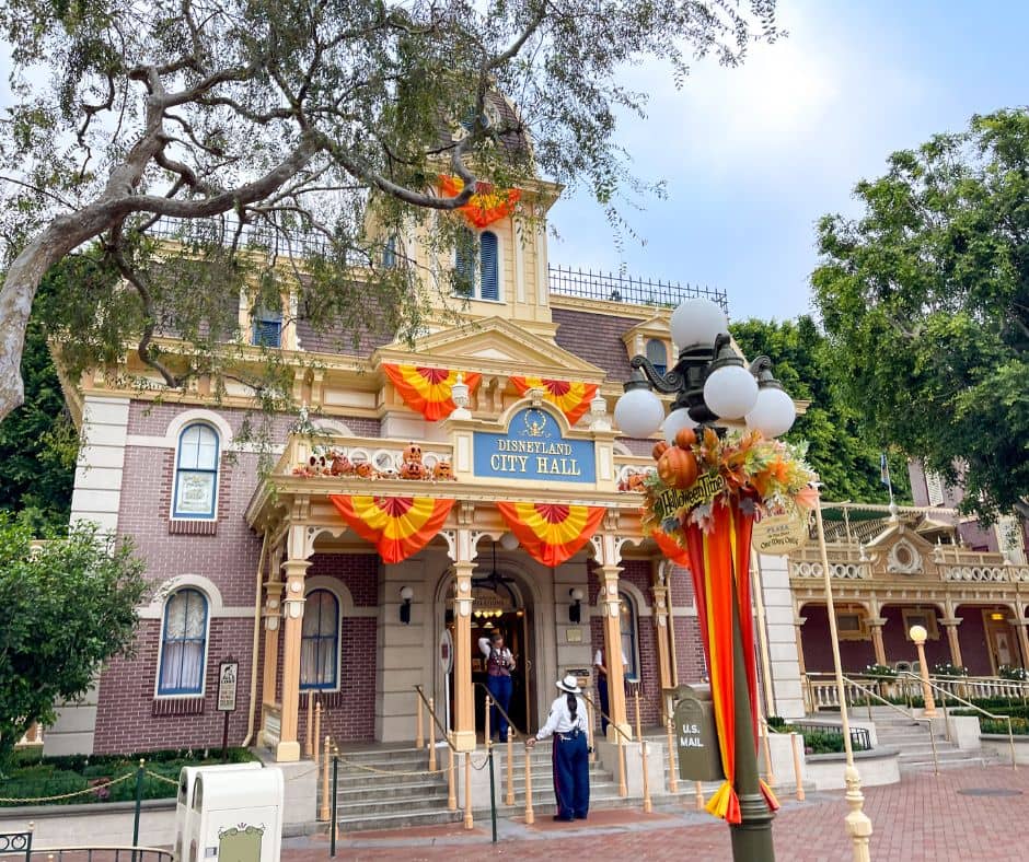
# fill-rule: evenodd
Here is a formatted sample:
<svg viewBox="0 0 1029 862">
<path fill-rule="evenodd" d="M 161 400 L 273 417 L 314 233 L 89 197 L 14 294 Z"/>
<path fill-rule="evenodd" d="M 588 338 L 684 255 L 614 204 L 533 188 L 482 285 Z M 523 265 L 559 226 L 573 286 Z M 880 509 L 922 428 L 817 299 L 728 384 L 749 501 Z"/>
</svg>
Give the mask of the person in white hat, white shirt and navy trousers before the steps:
<svg viewBox="0 0 1029 862">
<path fill-rule="evenodd" d="M 551 704 L 551 714 L 536 735 L 525 739 L 532 748 L 537 739 L 554 737 L 555 820 L 585 820 L 590 809 L 590 738 L 582 689 L 570 674 L 557 687 L 565 692 Z"/>
</svg>

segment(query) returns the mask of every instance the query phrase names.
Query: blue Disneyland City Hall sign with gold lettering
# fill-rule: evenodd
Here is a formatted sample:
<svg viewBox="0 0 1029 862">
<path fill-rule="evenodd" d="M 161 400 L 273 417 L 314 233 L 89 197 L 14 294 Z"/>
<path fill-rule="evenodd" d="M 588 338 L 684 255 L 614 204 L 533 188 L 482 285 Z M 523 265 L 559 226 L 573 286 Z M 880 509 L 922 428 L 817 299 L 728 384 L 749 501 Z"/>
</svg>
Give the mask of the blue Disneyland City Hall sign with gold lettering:
<svg viewBox="0 0 1029 862">
<path fill-rule="evenodd" d="M 511 417 L 506 434 L 475 432 L 476 476 L 596 482 L 592 440 L 565 440 L 550 413 L 527 407 Z"/>
</svg>

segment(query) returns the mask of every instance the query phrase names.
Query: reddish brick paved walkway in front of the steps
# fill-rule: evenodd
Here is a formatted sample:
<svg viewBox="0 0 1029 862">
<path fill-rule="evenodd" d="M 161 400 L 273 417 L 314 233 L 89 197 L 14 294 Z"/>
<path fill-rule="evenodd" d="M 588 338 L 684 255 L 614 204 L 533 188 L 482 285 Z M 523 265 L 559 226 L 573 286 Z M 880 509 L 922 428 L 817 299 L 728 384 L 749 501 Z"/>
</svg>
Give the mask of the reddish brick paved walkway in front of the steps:
<svg viewBox="0 0 1029 862">
<path fill-rule="evenodd" d="M 916 774 L 900 784 L 869 788 L 865 811 L 871 818 L 871 857 L 883 860 L 1029 859 L 1029 769 L 953 769 L 939 778 Z M 807 802 L 786 801 L 775 819 L 779 862 L 849 862 L 851 846 L 844 830 L 847 812 L 843 793 L 820 793 Z M 563 854 L 579 859 L 703 860 L 730 859 L 727 827 L 712 817 L 683 813 L 643 814 L 602 811 L 585 824 L 534 826 L 499 824 L 499 841 L 490 843 L 489 822 L 465 831 L 460 824 L 391 832 L 357 832 L 337 844 L 337 859 L 346 860 L 553 860 Z M 559 842 L 559 843 L 558 843 Z M 328 857 L 324 837 L 294 839 L 284 862 L 314 862 Z"/>
</svg>

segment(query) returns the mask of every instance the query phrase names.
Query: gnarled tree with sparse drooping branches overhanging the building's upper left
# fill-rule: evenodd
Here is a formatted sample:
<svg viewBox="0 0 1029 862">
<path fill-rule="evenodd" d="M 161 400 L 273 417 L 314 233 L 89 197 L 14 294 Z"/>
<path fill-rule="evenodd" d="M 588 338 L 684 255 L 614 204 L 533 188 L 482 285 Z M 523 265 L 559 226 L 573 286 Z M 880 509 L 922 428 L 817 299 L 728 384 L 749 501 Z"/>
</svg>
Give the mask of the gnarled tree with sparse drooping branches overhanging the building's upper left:
<svg viewBox="0 0 1029 862">
<path fill-rule="evenodd" d="M 235 331 L 285 287 L 316 327 L 419 330 L 431 263 L 479 178 L 586 188 L 618 223 L 640 183 L 615 143 L 646 94 L 628 65 L 735 65 L 776 37 L 775 0 L 20 0 L 0 4 L 12 107 L 0 124 L 0 417 L 21 403 L 25 326 L 44 273 L 100 238 L 100 278 L 48 331 L 95 364 L 122 356 L 170 388 L 243 374 Z M 509 97 L 517 108 L 506 101 Z M 439 194 L 441 172 L 463 189 Z M 657 187 L 658 190 L 659 187 Z M 416 229 L 420 229 L 416 230 Z M 177 253 L 163 241 L 183 241 Z M 391 237 L 395 253 L 383 257 Z M 254 249 L 259 253 L 255 253 Z M 287 258 L 308 258 L 304 272 Z M 120 277 L 112 284 L 106 275 Z M 437 280 L 440 283 L 436 283 Z M 103 289 L 101 289 L 103 288 Z M 228 311 L 227 311 L 228 310 Z M 291 313 L 291 308 L 284 310 Z M 72 326 L 69 318 L 81 324 Z M 181 337 L 166 343 L 161 334 Z M 227 346 L 227 345 L 231 345 Z M 267 361 L 251 362 L 255 394 Z M 124 373 L 124 372 L 119 372 Z"/>
</svg>

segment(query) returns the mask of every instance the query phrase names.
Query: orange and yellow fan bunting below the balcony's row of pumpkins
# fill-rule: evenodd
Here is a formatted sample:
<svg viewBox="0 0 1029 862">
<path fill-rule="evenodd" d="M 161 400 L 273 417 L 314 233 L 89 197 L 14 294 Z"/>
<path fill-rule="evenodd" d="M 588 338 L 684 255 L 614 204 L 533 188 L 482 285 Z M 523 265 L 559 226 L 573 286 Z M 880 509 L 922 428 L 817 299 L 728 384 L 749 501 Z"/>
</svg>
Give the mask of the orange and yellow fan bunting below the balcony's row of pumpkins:
<svg viewBox="0 0 1029 862">
<path fill-rule="evenodd" d="M 430 497 L 329 494 L 347 525 L 379 550 L 383 562 L 406 560 L 439 533 L 453 500 Z"/>
</svg>

